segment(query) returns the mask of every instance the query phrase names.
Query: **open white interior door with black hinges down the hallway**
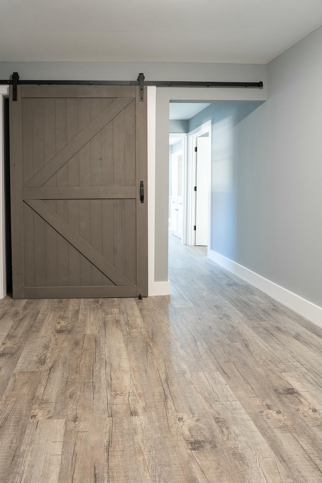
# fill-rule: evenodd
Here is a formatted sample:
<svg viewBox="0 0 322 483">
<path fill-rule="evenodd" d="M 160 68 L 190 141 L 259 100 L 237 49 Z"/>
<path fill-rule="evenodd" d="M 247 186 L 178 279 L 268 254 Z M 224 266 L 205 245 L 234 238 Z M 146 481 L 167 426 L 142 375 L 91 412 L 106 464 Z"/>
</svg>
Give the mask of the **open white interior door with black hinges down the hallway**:
<svg viewBox="0 0 322 483">
<path fill-rule="evenodd" d="M 210 138 L 197 137 L 196 245 L 208 245 L 211 173 Z"/>
</svg>

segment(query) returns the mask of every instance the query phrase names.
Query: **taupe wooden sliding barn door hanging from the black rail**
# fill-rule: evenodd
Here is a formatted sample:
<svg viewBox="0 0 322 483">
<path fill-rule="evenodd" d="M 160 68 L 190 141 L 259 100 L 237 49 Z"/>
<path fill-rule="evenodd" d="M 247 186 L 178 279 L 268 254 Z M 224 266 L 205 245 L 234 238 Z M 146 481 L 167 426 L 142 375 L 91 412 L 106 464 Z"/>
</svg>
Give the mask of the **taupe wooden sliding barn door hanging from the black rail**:
<svg viewBox="0 0 322 483">
<path fill-rule="evenodd" d="M 10 117 L 14 298 L 146 296 L 138 87 L 18 86 Z"/>
</svg>

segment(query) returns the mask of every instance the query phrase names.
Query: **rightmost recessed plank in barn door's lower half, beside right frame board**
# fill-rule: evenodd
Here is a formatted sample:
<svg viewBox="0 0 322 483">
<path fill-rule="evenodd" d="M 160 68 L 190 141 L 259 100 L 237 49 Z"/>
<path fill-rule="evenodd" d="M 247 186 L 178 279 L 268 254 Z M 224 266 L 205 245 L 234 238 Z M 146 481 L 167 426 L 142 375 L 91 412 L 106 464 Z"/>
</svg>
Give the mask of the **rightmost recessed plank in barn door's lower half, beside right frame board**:
<svg viewBox="0 0 322 483">
<path fill-rule="evenodd" d="M 125 276 L 136 283 L 136 206 L 135 200 L 125 203 Z"/>
</svg>

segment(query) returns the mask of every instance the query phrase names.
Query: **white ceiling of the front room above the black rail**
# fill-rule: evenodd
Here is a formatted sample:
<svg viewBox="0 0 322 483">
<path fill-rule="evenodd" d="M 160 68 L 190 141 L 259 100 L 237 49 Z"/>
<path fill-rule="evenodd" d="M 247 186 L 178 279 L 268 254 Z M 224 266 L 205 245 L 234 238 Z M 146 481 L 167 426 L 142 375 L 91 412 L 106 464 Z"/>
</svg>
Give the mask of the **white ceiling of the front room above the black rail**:
<svg viewBox="0 0 322 483">
<path fill-rule="evenodd" d="M 1 0 L 0 59 L 267 63 L 322 0 Z"/>
</svg>

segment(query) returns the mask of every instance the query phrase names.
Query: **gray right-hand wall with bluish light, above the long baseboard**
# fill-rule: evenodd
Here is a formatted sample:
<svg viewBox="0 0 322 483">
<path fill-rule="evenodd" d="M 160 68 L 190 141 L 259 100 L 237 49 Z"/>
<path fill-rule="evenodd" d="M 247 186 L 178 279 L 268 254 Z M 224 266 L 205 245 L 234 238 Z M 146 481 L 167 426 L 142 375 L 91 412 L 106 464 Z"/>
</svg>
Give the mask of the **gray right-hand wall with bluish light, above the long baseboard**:
<svg viewBox="0 0 322 483">
<path fill-rule="evenodd" d="M 214 124 L 211 241 L 212 250 L 319 306 L 321 59 L 322 28 L 268 64 L 266 103 L 253 112 L 239 106 Z"/>
</svg>

